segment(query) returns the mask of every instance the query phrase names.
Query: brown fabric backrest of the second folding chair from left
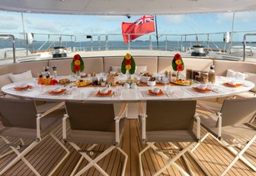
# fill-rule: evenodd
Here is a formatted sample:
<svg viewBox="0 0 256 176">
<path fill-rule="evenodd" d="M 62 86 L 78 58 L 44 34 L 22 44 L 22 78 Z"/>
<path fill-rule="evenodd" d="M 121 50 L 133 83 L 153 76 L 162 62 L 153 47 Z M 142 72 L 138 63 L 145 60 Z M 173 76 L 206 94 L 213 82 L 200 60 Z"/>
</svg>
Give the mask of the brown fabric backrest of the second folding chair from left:
<svg viewBox="0 0 256 176">
<path fill-rule="evenodd" d="M 115 131 L 113 104 L 66 102 L 66 112 L 72 130 Z"/>
</svg>

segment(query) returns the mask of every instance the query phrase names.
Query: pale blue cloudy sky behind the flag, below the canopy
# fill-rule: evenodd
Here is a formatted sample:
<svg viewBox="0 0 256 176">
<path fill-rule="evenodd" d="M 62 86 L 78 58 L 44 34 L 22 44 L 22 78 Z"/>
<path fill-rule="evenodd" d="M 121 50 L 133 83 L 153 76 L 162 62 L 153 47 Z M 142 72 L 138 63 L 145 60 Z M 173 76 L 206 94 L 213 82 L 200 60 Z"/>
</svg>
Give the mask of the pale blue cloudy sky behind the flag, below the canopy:
<svg viewBox="0 0 256 176">
<path fill-rule="evenodd" d="M 121 34 L 122 22 L 140 16 L 93 16 L 24 13 L 24 29 L 30 33 Z M 232 13 L 158 15 L 159 34 L 216 33 L 232 30 Z M 0 11 L 2 33 L 22 33 L 21 13 Z M 235 13 L 235 31 L 256 30 L 256 11 Z M 214 36 L 212 36 L 214 38 Z M 237 36 L 241 37 L 241 36 Z"/>
</svg>

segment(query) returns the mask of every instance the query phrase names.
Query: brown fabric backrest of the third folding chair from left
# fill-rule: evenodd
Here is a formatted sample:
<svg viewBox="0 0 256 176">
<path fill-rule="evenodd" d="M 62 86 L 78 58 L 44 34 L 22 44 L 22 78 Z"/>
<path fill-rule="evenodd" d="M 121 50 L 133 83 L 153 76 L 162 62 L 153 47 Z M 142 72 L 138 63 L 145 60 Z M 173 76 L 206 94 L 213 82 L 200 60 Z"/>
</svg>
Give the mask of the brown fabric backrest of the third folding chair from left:
<svg viewBox="0 0 256 176">
<path fill-rule="evenodd" d="M 195 100 L 147 101 L 146 130 L 192 130 L 196 104 Z"/>
</svg>

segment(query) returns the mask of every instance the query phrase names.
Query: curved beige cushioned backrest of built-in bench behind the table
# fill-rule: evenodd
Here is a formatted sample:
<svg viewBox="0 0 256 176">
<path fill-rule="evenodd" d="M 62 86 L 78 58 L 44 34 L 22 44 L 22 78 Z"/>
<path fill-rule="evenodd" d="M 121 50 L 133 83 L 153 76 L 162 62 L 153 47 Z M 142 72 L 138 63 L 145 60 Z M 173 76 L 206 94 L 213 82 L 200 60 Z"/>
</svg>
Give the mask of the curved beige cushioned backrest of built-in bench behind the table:
<svg viewBox="0 0 256 176">
<path fill-rule="evenodd" d="M 173 71 L 171 61 L 173 57 L 165 56 L 133 56 L 137 66 L 146 66 L 146 71 L 164 73 L 165 71 Z M 82 58 L 85 63 L 84 72 L 91 74 L 91 72 L 101 73 L 112 71 L 113 66 L 120 67 L 123 56 L 117 57 L 90 57 Z M 225 61 L 225 60 L 213 60 L 203 58 L 183 58 L 184 66 L 186 68 L 209 71 L 210 65 L 215 65 L 216 74 L 219 76 L 226 76 L 227 69 L 234 71 L 248 72 L 256 74 L 256 63 L 243 62 L 243 61 Z M 70 65 L 72 58 L 69 59 L 54 59 L 49 61 L 30 61 L 16 64 L 5 64 L 0 67 L 0 88 L 7 83 L 11 83 L 8 78 L 8 74 L 21 74 L 24 71 L 31 71 L 33 77 L 37 77 L 37 74 L 43 71 L 43 68 L 49 66 L 57 67 L 57 74 L 59 76 L 72 74 Z M 184 69 L 184 72 L 185 72 Z M 245 93 L 244 93 L 245 94 Z M 254 93 L 247 93 L 247 96 L 254 96 Z"/>
</svg>

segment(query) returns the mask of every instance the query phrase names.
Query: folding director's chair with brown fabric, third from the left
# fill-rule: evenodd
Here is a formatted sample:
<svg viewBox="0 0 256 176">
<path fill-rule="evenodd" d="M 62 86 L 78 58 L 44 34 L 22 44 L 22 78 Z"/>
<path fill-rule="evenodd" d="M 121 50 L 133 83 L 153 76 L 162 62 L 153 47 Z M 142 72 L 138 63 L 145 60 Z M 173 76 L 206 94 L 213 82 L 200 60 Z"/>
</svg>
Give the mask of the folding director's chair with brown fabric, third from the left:
<svg viewBox="0 0 256 176">
<path fill-rule="evenodd" d="M 196 101 L 147 101 L 146 112 L 142 102 L 138 102 L 138 106 L 142 141 L 146 143 L 146 147 L 139 152 L 139 174 L 143 175 L 142 154 L 149 148 L 167 161 L 153 175 L 162 174 L 170 165 L 184 175 L 193 174 L 184 154 L 200 139 L 200 118 L 195 114 Z M 193 130 L 194 121 L 197 121 L 196 133 Z M 172 148 L 160 149 L 155 143 L 170 143 Z M 188 144 L 184 148 L 179 148 L 175 143 Z M 190 174 L 176 164 L 175 161 L 180 157 L 184 159 Z"/>
</svg>

